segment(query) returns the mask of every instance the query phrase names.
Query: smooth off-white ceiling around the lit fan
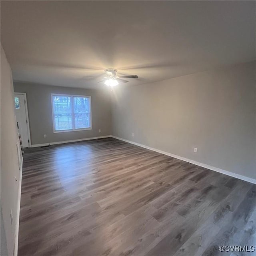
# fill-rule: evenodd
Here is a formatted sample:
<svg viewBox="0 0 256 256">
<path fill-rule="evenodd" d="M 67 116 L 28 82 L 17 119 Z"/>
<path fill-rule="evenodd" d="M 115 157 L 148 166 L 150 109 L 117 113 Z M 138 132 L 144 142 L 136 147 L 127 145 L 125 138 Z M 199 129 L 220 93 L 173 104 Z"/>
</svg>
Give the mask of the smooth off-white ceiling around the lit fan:
<svg viewBox="0 0 256 256">
<path fill-rule="evenodd" d="M 255 1 L 1 1 L 1 43 L 17 81 L 144 84 L 255 60 Z"/>
</svg>

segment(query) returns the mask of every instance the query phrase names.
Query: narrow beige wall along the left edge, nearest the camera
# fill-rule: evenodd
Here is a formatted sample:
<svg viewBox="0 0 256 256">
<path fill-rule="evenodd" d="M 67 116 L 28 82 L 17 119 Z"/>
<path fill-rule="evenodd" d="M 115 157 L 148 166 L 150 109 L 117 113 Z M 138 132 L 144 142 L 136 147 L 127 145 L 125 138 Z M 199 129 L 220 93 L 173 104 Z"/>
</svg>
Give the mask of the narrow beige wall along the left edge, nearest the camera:
<svg viewBox="0 0 256 256">
<path fill-rule="evenodd" d="M 8 255 L 17 250 L 15 240 L 19 221 L 19 200 L 21 174 L 18 166 L 16 143 L 18 141 L 17 124 L 14 114 L 12 73 L 1 46 L 1 209 L 4 229 L 1 228 L 1 249 L 6 235 Z M 15 181 L 15 177 L 18 181 Z M 12 210 L 13 223 L 10 212 Z M 16 246 L 14 248 L 14 245 Z M 2 255 L 2 252 L 1 252 Z"/>
</svg>

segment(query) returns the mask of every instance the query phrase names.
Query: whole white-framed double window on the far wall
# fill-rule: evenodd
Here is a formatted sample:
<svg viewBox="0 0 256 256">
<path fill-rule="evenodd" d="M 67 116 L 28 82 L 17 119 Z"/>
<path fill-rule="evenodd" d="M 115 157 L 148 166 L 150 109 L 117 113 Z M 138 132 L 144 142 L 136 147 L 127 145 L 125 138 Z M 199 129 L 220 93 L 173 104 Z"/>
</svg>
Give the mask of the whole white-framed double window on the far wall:
<svg viewBox="0 0 256 256">
<path fill-rule="evenodd" d="M 54 132 L 91 130 L 91 97 L 52 94 Z"/>
</svg>

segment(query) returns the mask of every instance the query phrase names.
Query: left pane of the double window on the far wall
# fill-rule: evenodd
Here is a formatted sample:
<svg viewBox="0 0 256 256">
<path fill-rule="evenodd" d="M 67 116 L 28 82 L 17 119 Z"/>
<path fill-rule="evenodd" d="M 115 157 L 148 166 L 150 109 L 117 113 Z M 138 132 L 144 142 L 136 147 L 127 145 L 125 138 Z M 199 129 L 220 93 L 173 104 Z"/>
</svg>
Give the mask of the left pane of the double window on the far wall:
<svg viewBox="0 0 256 256">
<path fill-rule="evenodd" d="M 70 97 L 53 96 L 52 100 L 53 100 L 52 103 L 53 103 L 55 130 L 56 131 L 71 130 L 72 129 L 72 109 L 71 109 Z"/>
</svg>

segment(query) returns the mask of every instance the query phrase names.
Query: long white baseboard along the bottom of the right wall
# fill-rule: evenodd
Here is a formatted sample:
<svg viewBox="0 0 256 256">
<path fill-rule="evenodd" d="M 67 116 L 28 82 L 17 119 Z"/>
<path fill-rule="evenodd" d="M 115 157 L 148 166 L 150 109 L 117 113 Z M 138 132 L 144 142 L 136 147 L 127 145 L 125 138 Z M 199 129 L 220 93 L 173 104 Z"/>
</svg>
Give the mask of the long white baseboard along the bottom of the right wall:
<svg viewBox="0 0 256 256">
<path fill-rule="evenodd" d="M 143 144 L 140 144 L 140 143 L 137 143 L 137 142 L 133 142 L 133 141 L 130 141 L 130 140 L 125 140 L 123 138 L 119 138 L 119 137 L 116 137 L 116 136 L 111 136 L 112 138 L 115 138 L 115 139 L 118 139 L 118 140 L 122 140 L 122 141 L 125 141 L 125 142 L 128 142 L 128 143 L 131 143 L 131 144 L 134 144 L 136 146 L 140 146 L 142 148 L 147 148 L 149 150 L 152 150 L 152 151 L 155 151 L 155 152 L 158 152 L 158 153 L 161 153 L 161 154 L 164 154 L 164 155 L 167 155 L 167 156 L 172 156 L 174 158 L 177 158 L 177 159 L 180 159 L 180 160 L 183 160 L 185 162 L 189 162 L 191 164 L 195 164 L 195 165 L 198 165 L 198 166 L 201 166 L 201 167 L 204 167 L 204 168 L 207 168 L 209 170 L 212 170 L 212 171 L 215 171 L 215 172 L 220 172 L 222 174 L 226 174 L 228 176 L 231 176 L 231 177 L 234 177 L 234 178 L 238 178 L 240 180 L 244 180 L 244 181 L 247 181 L 247 182 L 250 182 L 250 183 L 253 183 L 253 184 L 256 184 L 256 179 L 253 179 L 253 178 L 249 178 L 249 177 L 246 177 L 246 176 L 243 176 L 243 175 L 240 175 L 240 174 L 236 174 L 234 172 L 229 172 L 229 171 L 226 171 L 226 170 L 222 170 L 220 168 L 217 168 L 217 167 L 214 167 L 214 166 L 210 166 L 208 164 L 202 164 L 200 162 L 196 162 L 194 160 L 191 160 L 191 159 L 188 159 L 188 158 L 184 158 L 182 156 L 177 156 L 177 155 L 174 155 L 174 154 L 171 154 L 169 152 L 165 152 L 165 151 L 162 151 L 162 150 L 159 150 L 159 149 L 156 149 L 156 148 L 151 148 L 149 146 L 145 146 Z"/>
</svg>

